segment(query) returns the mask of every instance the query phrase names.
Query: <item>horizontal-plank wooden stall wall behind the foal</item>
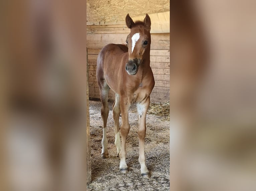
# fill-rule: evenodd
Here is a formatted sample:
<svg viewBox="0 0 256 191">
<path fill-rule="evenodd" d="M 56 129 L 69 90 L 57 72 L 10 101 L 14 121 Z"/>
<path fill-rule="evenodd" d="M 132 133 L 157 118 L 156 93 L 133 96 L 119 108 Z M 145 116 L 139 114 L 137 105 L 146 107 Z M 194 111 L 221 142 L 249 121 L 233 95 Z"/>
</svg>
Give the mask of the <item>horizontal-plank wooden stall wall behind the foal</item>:
<svg viewBox="0 0 256 191">
<path fill-rule="evenodd" d="M 90 98 L 100 98 L 96 79 L 96 60 L 100 50 L 109 43 L 125 44 L 129 33 L 130 29 L 124 21 L 87 22 Z M 170 33 L 151 33 L 150 61 L 155 78 L 155 87 L 150 95 L 151 101 L 169 101 Z M 112 90 L 110 90 L 109 99 L 115 99 Z"/>
</svg>

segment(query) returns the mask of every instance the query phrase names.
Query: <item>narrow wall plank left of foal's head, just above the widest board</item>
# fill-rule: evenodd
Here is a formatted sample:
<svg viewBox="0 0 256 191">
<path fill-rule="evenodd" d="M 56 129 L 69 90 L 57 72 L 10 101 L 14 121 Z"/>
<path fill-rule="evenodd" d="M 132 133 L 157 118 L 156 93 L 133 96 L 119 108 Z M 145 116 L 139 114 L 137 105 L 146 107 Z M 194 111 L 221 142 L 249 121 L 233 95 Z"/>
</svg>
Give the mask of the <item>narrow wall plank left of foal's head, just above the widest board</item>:
<svg viewBox="0 0 256 191">
<path fill-rule="evenodd" d="M 87 28 L 87 34 L 116 34 L 116 33 L 125 33 L 129 34 L 130 29 L 127 27 L 122 28 Z"/>
</svg>

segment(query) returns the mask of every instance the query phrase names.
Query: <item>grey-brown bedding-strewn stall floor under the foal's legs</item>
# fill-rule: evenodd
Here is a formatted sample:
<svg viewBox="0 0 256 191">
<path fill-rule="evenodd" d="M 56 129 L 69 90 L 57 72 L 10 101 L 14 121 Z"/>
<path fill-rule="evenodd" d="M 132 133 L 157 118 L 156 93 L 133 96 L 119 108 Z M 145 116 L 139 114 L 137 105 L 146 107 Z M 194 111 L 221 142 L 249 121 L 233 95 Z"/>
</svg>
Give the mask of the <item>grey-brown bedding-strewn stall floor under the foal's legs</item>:
<svg viewBox="0 0 256 191">
<path fill-rule="evenodd" d="M 127 174 L 119 172 L 120 159 L 117 156 L 115 141 L 112 104 L 109 102 L 109 117 L 107 123 L 107 138 L 109 158 L 101 157 L 101 140 L 103 122 L 101 118 L 101 102 L 90 101 L 90 133 L 91 133 L 91 165 L 92 183 L 87 189 L 92 191 L 168 191 L 169 187 L 169 130 L 170 123 L 163 117 L 147 114 L 145 156 L 146 165 L 151 178 L 145 179 L 140 175 L 139 138 L 137 134 L 136 105 L 132 105 L 129 112 L 130 132 L 126 141 L 127 159 L 129 168 Z M 119 119 L 121 125 L 121 117 Z"/>
</svg>

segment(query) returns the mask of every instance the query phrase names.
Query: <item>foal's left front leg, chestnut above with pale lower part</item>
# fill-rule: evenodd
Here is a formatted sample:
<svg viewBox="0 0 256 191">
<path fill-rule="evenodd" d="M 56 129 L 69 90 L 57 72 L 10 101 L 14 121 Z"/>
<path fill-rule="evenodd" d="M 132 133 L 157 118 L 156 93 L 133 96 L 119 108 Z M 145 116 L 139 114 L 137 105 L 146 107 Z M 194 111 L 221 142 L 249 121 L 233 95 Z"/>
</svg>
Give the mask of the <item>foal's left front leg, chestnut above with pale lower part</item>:
<svg viewBox="0 0 256 191">
<path fill-rule="evenodd" d="M 122 145 L 121 145 L 121 151 L 119 153 L 120 157 L 120 166 L 119 170 L 122 173 L 128 173 L 128 166 L 126 164 L 126 137 L 130 131 L 130 125 L 128 121 L 128 111 L 130 107 L 130 102 L 128 98 L 124 98 L 120 96 L 120 109 L 122 113 L 122 125 L 120 127 L 121 137 L 122 137 Z"/>
</svg>

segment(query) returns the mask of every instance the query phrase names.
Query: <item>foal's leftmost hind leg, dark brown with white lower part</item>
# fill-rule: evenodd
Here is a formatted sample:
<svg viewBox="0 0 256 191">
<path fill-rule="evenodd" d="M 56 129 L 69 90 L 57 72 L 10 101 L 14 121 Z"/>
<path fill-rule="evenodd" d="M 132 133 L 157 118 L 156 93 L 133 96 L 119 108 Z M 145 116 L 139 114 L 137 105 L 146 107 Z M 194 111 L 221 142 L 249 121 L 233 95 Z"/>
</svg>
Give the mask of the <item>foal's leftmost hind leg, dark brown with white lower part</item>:
<svg viewBox="0 0 256 191">
<path fill-rule="evenodd" d="M 108 139 L 107 139 L 107 120 L 108 120 L 108 114 L 109 114 L 109 107 L 108 107 L 108 92 L 109 92 L 109 86 L 107 85 L 105 80 L 102 80 L 98 82 L 99 88 L 100 88 L 100 97 L 101 97 L 101 117 L 103 120 L 103 137 L 101 141 L 102 145 L 102 158 L 108 158 Z"/>
</svg>

